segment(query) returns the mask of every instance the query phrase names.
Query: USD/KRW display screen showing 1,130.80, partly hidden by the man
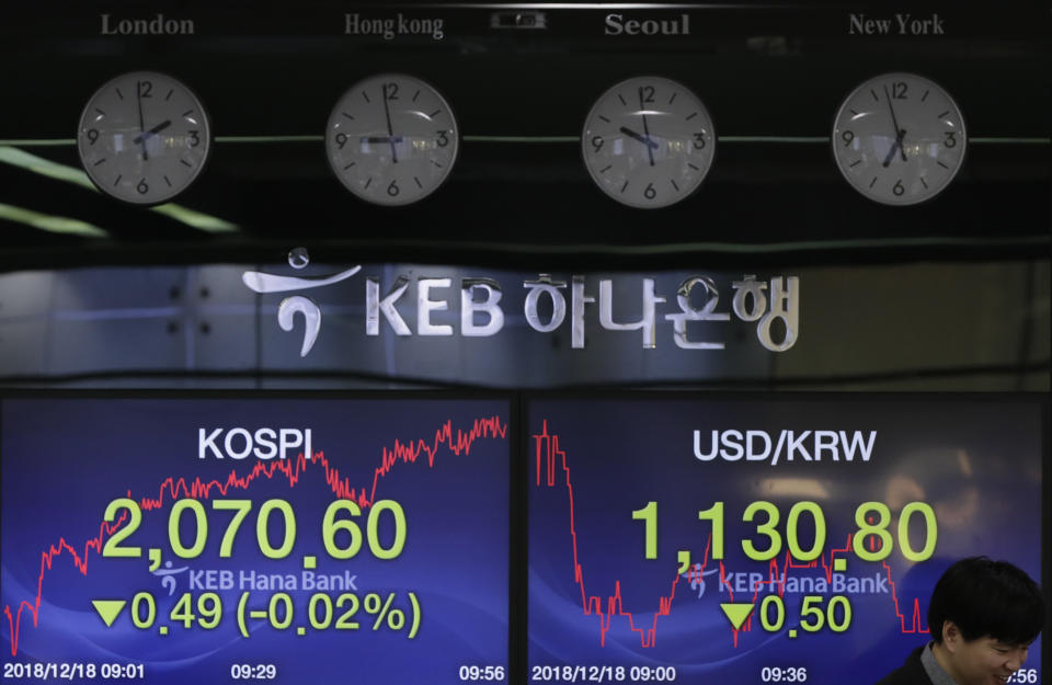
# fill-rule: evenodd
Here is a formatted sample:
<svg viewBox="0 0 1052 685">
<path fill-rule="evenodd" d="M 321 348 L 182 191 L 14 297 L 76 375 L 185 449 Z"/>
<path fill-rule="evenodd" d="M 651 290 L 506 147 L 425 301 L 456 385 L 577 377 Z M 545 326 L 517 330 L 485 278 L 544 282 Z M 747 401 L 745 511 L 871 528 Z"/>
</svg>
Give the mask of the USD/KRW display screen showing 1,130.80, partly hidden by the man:
<svg viewBox="0 0 1052 685">
<path fill-rule="evenodd" d="M 530 683 L 876 683 L 956 559 L 1041 582 L 1040 398 L 536 397 Z M 1041 682 L 1041 641 L 1010 682 Z"/>
</svg>

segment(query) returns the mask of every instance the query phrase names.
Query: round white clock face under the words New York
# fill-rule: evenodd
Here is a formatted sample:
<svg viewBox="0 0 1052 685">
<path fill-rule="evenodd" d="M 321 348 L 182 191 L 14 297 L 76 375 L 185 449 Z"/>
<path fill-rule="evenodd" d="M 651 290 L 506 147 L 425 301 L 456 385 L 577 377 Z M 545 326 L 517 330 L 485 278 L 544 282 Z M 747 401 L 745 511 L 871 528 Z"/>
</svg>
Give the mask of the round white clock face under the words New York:
<svg viewBox="0 0 1052 685">
<path fill-rule="evenodd" d="M 888 205 L 937 195 L 960 170 L 967 146 L 953 99 L 912 73 L 866 81 L 847 96 L 833 124 L 833 156 L 844 178 Z"/>
</svg>

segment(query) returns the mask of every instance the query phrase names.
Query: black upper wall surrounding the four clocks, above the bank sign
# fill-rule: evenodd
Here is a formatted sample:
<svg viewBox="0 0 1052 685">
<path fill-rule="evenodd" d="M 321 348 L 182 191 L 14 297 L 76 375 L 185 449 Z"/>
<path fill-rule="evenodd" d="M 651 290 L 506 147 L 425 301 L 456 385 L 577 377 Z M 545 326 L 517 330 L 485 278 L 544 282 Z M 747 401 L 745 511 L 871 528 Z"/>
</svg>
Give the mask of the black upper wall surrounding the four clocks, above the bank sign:
<svg viewBox="0 0 1052 685">
<path fill-rule="evenodd" d="M 202 178 L 176 203 L 236 225 L 211 232 L 126 206 L 22 164 L 0 163 L 0 204 L 79 219 L 84 238 L 0 218 L 0 269 L 83 263 L 272 261 L 295 244 L 333 259 L 556 263 L 617 267 L 728 260 L 835 262 L 1047 255 L 1050 216 L 1050 21 L 1036 5 L 910 10 L 945 35 L 850 35 L 851 12 L 877 7 L 614 5 L 539 8 L 548 28 L 495 28 L 521 5 L 49 3 L 5 8 L 0 27 L 0 145 L 79 170 L 72 142 L 91 93 L 138 69 L 197 92 L 218 138 Z M 689 36 L 604 36 L 605 16 L 690 14 Z M 444 19 L 432 36 L 341 35 L 343 16 Z M 102 14 L 191 18 L 193 36 L 100 36 Z M 503 21 L 503 20 L 501 20 Z M 931 202 L 877 205 L 833 163 L 836 107 L 862 80 L 913 71 L 953 94 L 968 158 Z M 346 88 L 378 72 L 436 84 L 464 141 L 448 182 L 403 208 L 350 194 L 322 134 Z M 665 76 L 693 87 L 720 137 L 701 190 L 667 209 L 603 195 L 581 161 L 592 102 L 617 80 Z M 260 137 L 297 137 L 260 140 Z M 488 137 L 514 140 L 488 140 Z M 563 140 L 546 141 L 548 137 Z M 788 243 L 788 244 L 787 244 Z M 756 251 L 752 251 L 756 250 Z"/>
</svg>

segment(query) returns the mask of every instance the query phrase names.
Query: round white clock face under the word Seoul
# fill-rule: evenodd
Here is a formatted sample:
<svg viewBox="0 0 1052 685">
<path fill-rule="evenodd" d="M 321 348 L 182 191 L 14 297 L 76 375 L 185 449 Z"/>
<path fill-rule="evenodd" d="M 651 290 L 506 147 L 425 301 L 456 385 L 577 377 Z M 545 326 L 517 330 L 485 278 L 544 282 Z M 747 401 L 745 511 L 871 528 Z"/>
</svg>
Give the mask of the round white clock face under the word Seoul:
<svg viewBox="0 0 1052 685">
<path fill-rule="evenodd" d="M 701 184 L 716 153 L 716 132 L 688 88 L 640 77 L 598 99 L 581 146 L 588 173 L 607 195 L 631 207 L 666 207 Z"/>
</svg>

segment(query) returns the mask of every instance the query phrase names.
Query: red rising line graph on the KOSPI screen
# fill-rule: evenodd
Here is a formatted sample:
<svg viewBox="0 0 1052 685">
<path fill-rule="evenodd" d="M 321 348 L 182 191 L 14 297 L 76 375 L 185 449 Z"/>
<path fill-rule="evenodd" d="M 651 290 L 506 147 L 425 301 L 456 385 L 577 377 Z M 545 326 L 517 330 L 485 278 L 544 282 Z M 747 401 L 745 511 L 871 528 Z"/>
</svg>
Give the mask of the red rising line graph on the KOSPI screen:
<svg viewBox="0 0 1052 685">
<path fill-rule="evenodd" d="M 380 464 L 373 471 L 371 486 L 366 488 L 354 488 L 351 486 L 350 478 L 344 478 L 340 470 L 333 467 L 325 458 L 323 452 L 315 453 L 309 459 L 300 453 L 295 459 L 281 461 L 258 461 L 255 466 L 245 475 L 239 476 L 237 471 L 231 470 L 226 480 L 207 480 L 199 478 L 186 480 L 185 478 L 167 478 L 158 488 L 157 496 L 144 496 L 139 499 L 139 506 L 145 511 L 152 511 L 164 505 L 167 500 L 176 499 L 209 499 L 214 492 L 226 495 L 230 490 L 248 490 L 252 482 L 259 478 L 273 479 L 275 477 L 285 477 L 288 480 L 289 488 L 296 487 L 300 477 L 307 470 L 308 465 L 321 466 L 324 470 L 325 483 L 332 490 L 332 493 L 339 499 L 354 500 L 359 506 L 367 507 L 376 501 L 376 490 L 382 477 L 387 476 L 398 464 L 415 464 L 421 455 L 427 457 L 427 467 L 434 468 L 435 457 L 439 447 L 445 447 L 451 454 L 460 456 L 471 452 L 471 445 L 480 438 L 504 438 L 507 434 L 507 423 L 502 422 L 500 416 L 488 419 L 476 419 L 469 431 L 457 430 L 454 433 L 453 421 L 446 421 L 437 431 L 434 438 L 414 439 L 409 443 L 395 441 L 389 449 L 382 448 Z M 132 492 L 127 495 L 132 498 Z M 19 635 L 22 625 L 22 610 L 26 609 L 33 617 L 33 626 L 36 627 L 39 620 L 41 596 L 44 587 L 44 575 L 52 568 L 57 557 L 67 553 L 72 558 L 72 562 L 78 571 L 88 575 L 89 552 L 94 551 L 99 555 L 104 540 L 112 536 L 124 523 L 125 514 L 122 514 L 113 523 L 103 522 L 99 526 L 99 533 L 89 538 L 83 544 L 83 551 L 78 552 L 77 548 L 70 545 L 65 537 L 60 537 L 57 543 L 50 545 L 48 549 L 41 552 L 41 574 L 36 586 L 36 598 L 33 602 L 23 601 L 15 612 L 11 610 L 10 605 L 3 607 L 3 614 L 8 619 L 8 627 L 11 633 L 11 655 L 16 657 L 19 652 Z"/>
</svg>

